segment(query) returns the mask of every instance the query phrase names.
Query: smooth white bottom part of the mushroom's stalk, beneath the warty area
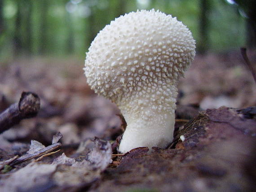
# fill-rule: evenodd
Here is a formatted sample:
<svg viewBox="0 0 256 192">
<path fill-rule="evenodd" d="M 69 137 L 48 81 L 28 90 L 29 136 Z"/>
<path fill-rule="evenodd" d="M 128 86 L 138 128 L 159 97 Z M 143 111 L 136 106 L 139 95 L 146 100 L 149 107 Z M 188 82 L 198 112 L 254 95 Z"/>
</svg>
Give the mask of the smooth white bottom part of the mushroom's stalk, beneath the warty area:
<svg viewBox="0 0 256 192">
<path fill-rule="evenodd" d="M 174 112 L 168 118 L 166 114 L 152 116 L 149 120 L 124 118 L 126 130 L 119 145 L 119 152 L 126 153 L 133 148 L 152 147 L 166 148 L 173 140 L 175 116 Z M 132 120 L 132 121 L 131 121 Z"/>
</svg>

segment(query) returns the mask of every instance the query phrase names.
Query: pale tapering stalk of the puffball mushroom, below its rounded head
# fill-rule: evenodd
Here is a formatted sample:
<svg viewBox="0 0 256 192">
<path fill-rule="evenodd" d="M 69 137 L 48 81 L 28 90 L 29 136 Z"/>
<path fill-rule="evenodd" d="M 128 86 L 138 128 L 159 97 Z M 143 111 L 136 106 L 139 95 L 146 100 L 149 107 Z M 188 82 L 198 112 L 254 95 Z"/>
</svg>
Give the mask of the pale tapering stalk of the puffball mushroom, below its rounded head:
<svg viewBox="0 0 256 192">
<path fill-rule="evenodd" d="M 173 92 L 168 93 L 161 88 L 161 91 L 159 89 L 156 91 L 158 94 L 143 94 L 141 99 L 136 99 L 134 96 L 135 98 L 119 105 L 127 122 L 119 145 L 120 152 L 125 153 L 143 146 L 150 149 L 154 146 L 166 148 L 172 142 L 177 90 L 176 87 L 169 89 Z M 166 97 L 163 97 L 163 92 L 166 92 Z"/>
</svg>

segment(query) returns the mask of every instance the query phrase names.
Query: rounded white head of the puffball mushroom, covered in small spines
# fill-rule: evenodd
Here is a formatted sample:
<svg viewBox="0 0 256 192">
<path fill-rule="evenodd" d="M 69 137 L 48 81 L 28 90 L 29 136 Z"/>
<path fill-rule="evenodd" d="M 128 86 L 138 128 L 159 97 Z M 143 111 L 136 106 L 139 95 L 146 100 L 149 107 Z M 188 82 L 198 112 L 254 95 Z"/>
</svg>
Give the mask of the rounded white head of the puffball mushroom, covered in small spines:
<svg viewBox="0 0 256 192">
<path fill-rule="evenodd" d="M 96 93 L 119 105 L 145 87 L 175 85 L 194 56 L 192 34 L 176 17 L 141 10 L 116 18 L 97 34 L 84 71 Z"/>
</svg>

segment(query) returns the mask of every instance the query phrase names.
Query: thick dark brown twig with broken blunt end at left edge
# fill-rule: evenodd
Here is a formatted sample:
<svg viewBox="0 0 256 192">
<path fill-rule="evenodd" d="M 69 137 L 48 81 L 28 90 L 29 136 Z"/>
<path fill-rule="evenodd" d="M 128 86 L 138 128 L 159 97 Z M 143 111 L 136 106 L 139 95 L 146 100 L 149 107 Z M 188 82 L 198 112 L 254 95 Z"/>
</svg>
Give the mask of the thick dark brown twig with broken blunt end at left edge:
<svg viewBox="0 0 256 192">
<path fill-rule="evenodd" d="M 18 103 L 0 113 L 0 133 L 8 130 L 22 119 L 35 117 L 40 109 L 40 98 L 32 92 L 22 92 Z"/>
</svg>

